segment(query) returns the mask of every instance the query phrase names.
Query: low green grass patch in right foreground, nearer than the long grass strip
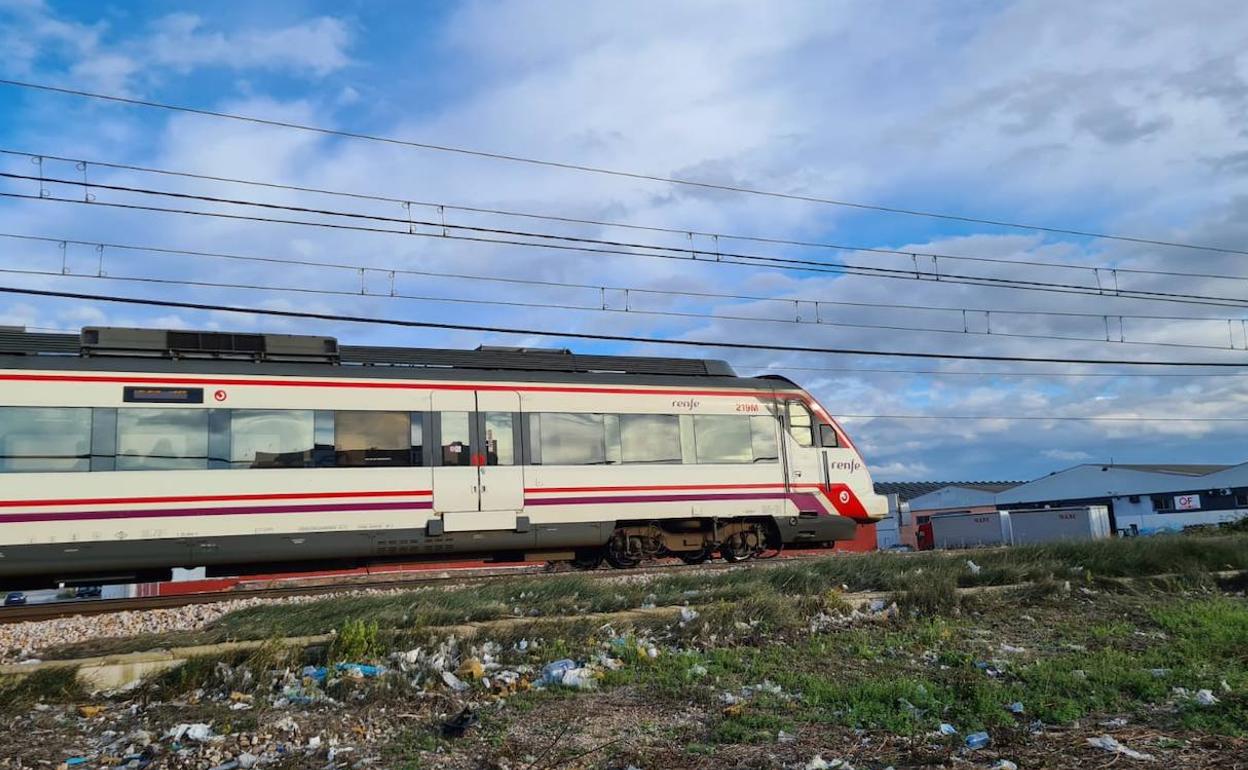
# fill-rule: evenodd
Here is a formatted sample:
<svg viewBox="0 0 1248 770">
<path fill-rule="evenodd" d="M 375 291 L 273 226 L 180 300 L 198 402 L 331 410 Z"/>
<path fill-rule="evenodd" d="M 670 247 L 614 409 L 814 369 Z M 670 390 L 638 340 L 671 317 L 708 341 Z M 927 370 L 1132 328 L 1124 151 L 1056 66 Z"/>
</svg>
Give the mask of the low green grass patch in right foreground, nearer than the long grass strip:
<svg viewBox="0 0 1248 770">
<path fill-rule="evenodd" d="M 1048 600 L 1050 624 L 1031 628 L 1028 651 L 998 661 L 998 641 L 1016 640 L 1012 598 L 978 607 L 978 619 L 904 616 L 886 626 L 800 635 L 766 645 L 715 646 L 628 666 L 609 678 L 673 703 L 716 704 L 720 693 L 773 683 L 780 694 L 743 699 L 711 726 L 710 743 L 769 743 L 779 730 L 839 725 L 911 735 L 952 723 L 1012 730 L 1031 719 L 1071 724 L 1094 714 L 1132 714 L 1174 726 L 1244 736 L 1248 699 L 1248 603 L 1107 594 L 1094 605 Z M 1131 619 L 1097 623 L 1101 610 Z M 982 628 L 991 618 L 988 628 Z M 1065 623 L 1060 623 L 1058 620 Z M 1146 634 L 1146 636 L 1137 636 Z M 1138 644 L 1123 644 L 1141 639 Z M 1073 648 L 1073 649 L 1071 649 Z M 991 664 L 988 663 L 991 661 Z M 689 669 L 703 665 L 705 678 Z M 1002 666 L 1000 675 L 985 668 Z M 1158 676 L 1153 669 L 1167 669 Z M 1233 690 L 1216 706 L 1177 701 L 1172 688 Z M 1007 704 L 1022 701 L 1017 716 Z"/>
</svg>

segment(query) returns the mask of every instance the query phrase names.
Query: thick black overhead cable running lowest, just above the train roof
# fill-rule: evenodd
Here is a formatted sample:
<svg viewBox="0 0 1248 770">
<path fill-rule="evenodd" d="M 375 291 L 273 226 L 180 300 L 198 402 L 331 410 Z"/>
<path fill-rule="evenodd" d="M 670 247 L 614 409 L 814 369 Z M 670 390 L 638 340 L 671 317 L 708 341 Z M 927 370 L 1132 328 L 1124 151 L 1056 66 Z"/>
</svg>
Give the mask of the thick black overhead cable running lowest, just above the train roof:
<svg viewBox="0 0 1248 770">
<path fill-rule="evenodd" d="M 723 342 L 715 339 L 660 338 L 660 337 L 643 337 L 638 334 L 607 334 L 607 333 L 578 332 L 567 329 L 552 331 L 552 329 L 534 329 L 534 328 L 510 328 L 510 327 L 500 327 L 490 324 L 453 323 L 446 321 L 416 321 L 409 318 L 374 318 L 368 316 L 351 316 L 342 313 L 246 307 L 246 306 L 232 306 L 232 305 L 217 305 L 211 302 L 161 300 L 154 297 L 122 297 L 116 295 L 94 295 L 85 292 L 66 292 L 56 290 L 29 288 L 20 286 L 0 286 L 0 293 L 24 295 L 31 297 L 50 297 L 50 298 L 62 298 L 62 300 L 80 300 L 87 302 L 112 302 L 120 305 L 139 305 L 150 307 L 177 307 L 185 309 L 212 311 L 223 313 L 271 316 L 275 318 L 302 318 L 302 319 L 314 319 L 314 321 L 329 321 L 337 323 L 363 323 L 374 326 L 396 326 L 407 328 L 428 328 L 428 329 L 443 329 L 443 331 L 467 331 L 467 332 L 515 334 L 515 336 L 530 336 L 530 337 L 594 339 L 599 342 L 628 342 L 628 343 L 654 344 L 654 346 L 710 347 L 710 348 L 724 348 L 724 349 L 770 351 L 770 352 L 806 353 L 806 354 L 874 356 L 874 357 L 887 357 L 887 358 L 1075 363 L 1075 364 L 1092 364 L 1092 366 L 1132 366 L 1132 367 L 1163 366 L 1163 367 L 1236 368 L 1236 369 L 1248 371 L 1248 361 L 1244 362 L 1139 361 L 1133 358 L 1076 358 L 1076 357 L 1060 357 L 1060 356 L 937 353 L 926 351 L 872 351 L 872 349 L 847 348 L 847 347 L 817 347 L 817 346 L 773 344 L 773 343 L 755 343 L 755 342 Z"/>
</svg>

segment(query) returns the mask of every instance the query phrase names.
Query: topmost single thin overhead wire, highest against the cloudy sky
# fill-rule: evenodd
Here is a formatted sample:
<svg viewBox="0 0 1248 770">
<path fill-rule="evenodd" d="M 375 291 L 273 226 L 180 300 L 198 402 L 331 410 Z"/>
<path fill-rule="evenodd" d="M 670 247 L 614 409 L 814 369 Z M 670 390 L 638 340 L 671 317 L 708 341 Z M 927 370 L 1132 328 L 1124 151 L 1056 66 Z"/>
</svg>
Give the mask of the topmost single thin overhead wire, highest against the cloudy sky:
<svg viewBox="0 0 1248 770">
<path fill-rule="evenodd" d="M 418 150 L 428 150 L 428 151 L 448 152 L 448 154 L 457 154 L 457 155 L 464 155 L 464 156 L 472 156 L 472 157 L 480 157 L 480 158 L 485 158 L 485 160 L 507 161 L 507 162 L 513 162 L 513 163 L 524 163 L 524 165 L 532 165 L 532 166 L 543 166 L 543 167 L 549 167 L 549 168 L 559 168 L 559 170 L 564 170 L 564 171 L 578 171 L 578 172 L 585 172 L 585 173 L 615 176 L 615 177 L 631 178 L 631 180 L 638 180 L 638 181 L 659 182 L 659 183 L 665 183 L 665 185 L 678 185 L 678 186 L 685 186 L 685 187 L 696 187 L 696 188 L 703 188 L 703 190 L 715 190 L 715 191 L 720 191 L 720 192 L 733 192 L 733 193 L 741 193 L 741 195 L 763 196 L 763 197 L 770 197 L 770 198 L 779 198 L 779 200 L 787 200 L 787 201 L 800 201 L 800 202 L 806 202 L 806 203 L 817 203 L 817 205 L 824 205 L 824 206 L 836 206 L 836 207 L 842 207 L 842 208 L 855 208 L 855 210 L 861 210 L 861 211 L 874 211 L 874 212 L 880 212 L 880 213 L 891 213 L 891 215 L 910 216 L 910 217 L 936 218 L 936 220 L 956 221 L 956 222 L 965 222 L 965 223 L 972 223 L 972 225 L 987 225 L 987 226 L 993 226 L 993 227 L 1006 227 L 1006 228 L 1012 228 L 1012 230 L 1028 230 L 1028 231 L 1033 231 L 1033 232 L 1047 232 L 1047 233 L 1068 235 L 1068 236 L 1076 236 L 1076 237 L 1112 240 L 1112 241 L 1124 241 L 1124 242 L 1139 243 L 1139 245 L 1148 245 L 1148 246 L 1162 246 L 1162 247 L 1169 247 L 1169 248 L 1184 248 L 1184 250 L 1193 250 L 1193 251 L 1206 251 L 1206 252 L 1217 252 L 1217 253 L 1248 256 L 1248 251 L 1238 250 L 1238 248 L 1229 248 L 1229 247 L 1223 247 L 1223 246 L 1212 246 L 1212 245 L 1189 243 L 1189 242 L 1182 242 L 1182 241 L 1168 241 L 1168 240 L 1162 240 L 1162 238 L 1148 238 L 1148 237 L 1141 237 L 1141 236 L 1128 236 L 1128 235 L 1118 235 L 1118 233 L 1097 232 L 1097 231 L 1092 231 L 1092 230 L 1083 230 L 1083 228 L 1075 228 L 1075 227 L 1056 227 L 1056 226 L 1047 226 L 1047 225 L 1027 225 L 1027 223 L 1021 223 L 1021 222 L 1011 222 L 1011 221 L 1007 221 L 1007 220 L 996 220 L 996 218 L 991 218 L 991 217 L 973 217 L 973 216 L 966 216 L 966 215 L 955 215 L 955 213 L 921 211 L 921 210 L 917 210 L 917 208 L 902 208 L 902 207 L 895 207 L 895 206 L 882 206 L 882 205 L 876 205 L 876 203 L 864 203 L 864 202 L 856 202 L 856 201 L 846 201 L 846 200 L 837 200 L 837 198 L 830 198 L 830 197 L 820 197 L 820 196 L 814 196 L 814 195 L 801 195 L 801 193 L 792 193 L 792 192 L 780 192 L 780 191 L 761 190 L 761 188 L 758 188 L 758 187 L 746 187 L 744 185 L 728 185 L 728 183 L 723 183 L 723 182 L 710 182 L 710 181 L 705 181 L 705 180 L 684 178 L 684 177 L 676 177 L 676 176 L 663 176 L 663 175 L 656 175 L 656 173 L 643 173 L 643 172 L 636 172 L 636 171 L 624 171 L 624 170 L 618 170 L 618 168 L 607 168 L 607 167 L 590 166 L 590 165 L 584 165 L 584 163 L 573 163 L 573 162 L 565 162 L 565 161 L 553 161 L 553 160 L 527 157 L 527 156 L 522 156 L 522 155 L 513 155 L 513 154 L 505 154 L 505 152 L 493 152 L 493 151 L 485 151 L 485 150 L 475 150 L 475 149 L 470 149 L 470 147 L 456 147 L 456 146 L 451 146 L 451 145 L 439 145 L 439 144 L 433 144 L 433 142 L 421 142 L 421 141 L 414 141 L 414 140 L 396 139 L 396 137 L 381 136 L 381 135 L 376 135 L 376 134 L 366 134 L 366 132 L 361 132 L 361 131 L 346 131 L 346 130 L 339 130 L 339 129 L 328 129 L 328 127 L 324 127 L 324 126 L 313 126 L 313 125 L 308 125 L 308 124 L 298 124 L 298 122 L 295 122 L 295 121 L 282 121 L 282 120 L 263 119 L 263 117 L 256 117 L 256 116 L 248 116 L 248 115 L 238 115 L 238 114 L 232 114 L 232 112 L 223 112 L 223 111 L 217 111 L 217 110 L 207 110 L 207 109 L 202 109 L 202 107 L 190 107 L 190 106 L 185 106 L 185 105 L 172 105 L 172 104 L 158 102 L 158 101 L 154 101 L 154 100 L 134 99 L 134 97 L 117 96 L 117 95 L 111 95 L 111 94 L 99 94 L 99 92 L 85 91 L 85 90 L 80 90 L 80 89 L 69 89 L 69 87 L 62 87 L 62 86 L 52 86 L 52 85 L 47 85 L 47 84 L 36 84 L 36 82 L 14 80 L 14 79 L 0 79 L 0 85 L 12 86 L 12 87 L 20 87 L 20 89 L 27 89 L 27 90 L 36 90 L 36 91 L 45 91 L 45 92 L 56 92 L 56 94 L 64 94 L 64 95 L 69 95 L 69 96 L 77 96 L 77 97 L 84 97 L 84 99 L 94 99 L 94 100 L 100 100 L 100 101 L 110 101 L 110 102 L 115 102 L 115 104 L 125 104 L 125 105 L 131 105 L 131 106 L 150 107 L 150 109 L 166 110 L 166 111 L 173 111 L 173 112 L 185 112 L 185 114 L 200 115 L 200 116 L 205 116 L 205 117 L 215 117 L 215 119 L 222 119 L 222 120 L 250 122 L 250 124 L 255 124 L 255 125 L 265 125 L 265 126 L 272 126 L 272 127 L 278 127 L 278 129 L 291 129 L 291 130 L 306 131 L 306 132 L 312 132 L 312 134 L 319 134 L 319 135 L 323 135 L 323 136 L 336 136 L 336 137 L 341 137 L 341 139 L 351 139 L 351 140 L 363 140 L 363 141 L 381 142 L 381 144 L 394 145 L 394 146 L 403 146 L 403 147 L 412 147 L 412 149 L 418 149 Z"/>
</svg>

